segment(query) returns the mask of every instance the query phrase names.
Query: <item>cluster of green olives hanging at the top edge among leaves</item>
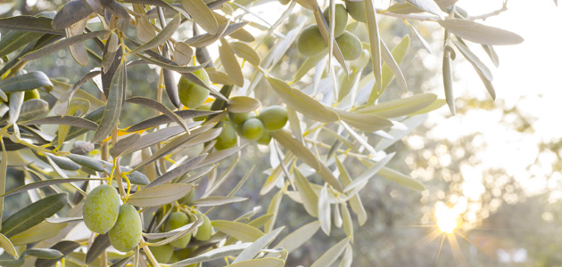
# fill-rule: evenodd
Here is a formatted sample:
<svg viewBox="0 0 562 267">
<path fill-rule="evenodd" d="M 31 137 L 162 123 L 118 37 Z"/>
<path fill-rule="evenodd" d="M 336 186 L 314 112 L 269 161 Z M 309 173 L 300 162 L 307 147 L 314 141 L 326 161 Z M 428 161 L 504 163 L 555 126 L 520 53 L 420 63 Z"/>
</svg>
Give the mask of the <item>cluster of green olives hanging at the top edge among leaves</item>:
<svg viewBox="0 0 562 267">
<path fill-rule="evenodd" d="M 345 30 L 347 26 L 347 15 L 349 13 L 353 19 L 362 21 L 360 20 L 361 18 L 365 20 L 365 9 L 359 6 L 362 6 L 363 2 L 346 1 L 345 4 L 347 5 L 347 9 L 343 4 L 335 4 L 334 37 L 335 43 L 337 43 L 337 46 L 342 52 L 343 59 L 345 61 L 353 61 L 360 57 L 363 52 L 363 47 L 357 36 Z M 360 12 L 363 12 L 362 17 L 360 16 Z M 324 20 L 326 20 L 328 26 L 330 25 L 330 17 L 330 10 L 326 8 L 326 10 L 324 10 Z M 297 41 L 299 52 L 307 57 L 313 57 L 324 53 L 327 47 L 328 45 L 320 34 L 318 25 L 310 25 L 304 28 Z"/>
</svg>

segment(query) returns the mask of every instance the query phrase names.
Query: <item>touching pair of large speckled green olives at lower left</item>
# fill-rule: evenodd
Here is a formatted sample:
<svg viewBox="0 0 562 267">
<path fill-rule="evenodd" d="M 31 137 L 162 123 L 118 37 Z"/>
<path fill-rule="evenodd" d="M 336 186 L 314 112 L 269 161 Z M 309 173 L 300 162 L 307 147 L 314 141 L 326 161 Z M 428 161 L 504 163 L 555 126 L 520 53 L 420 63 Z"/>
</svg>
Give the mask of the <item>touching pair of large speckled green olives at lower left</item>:
<svg viewBox="0 0 562 267">
<path fill-rule="evenodd" d="M 138 246 L 142 233 L 140 215 L 134 206 L 120 205 L 119 193 L 111 185 L 100 185 L 90 191 L 82 215 L 89 230 L 109 232 L 115 249 L 128 252 Z"/>
</svg>

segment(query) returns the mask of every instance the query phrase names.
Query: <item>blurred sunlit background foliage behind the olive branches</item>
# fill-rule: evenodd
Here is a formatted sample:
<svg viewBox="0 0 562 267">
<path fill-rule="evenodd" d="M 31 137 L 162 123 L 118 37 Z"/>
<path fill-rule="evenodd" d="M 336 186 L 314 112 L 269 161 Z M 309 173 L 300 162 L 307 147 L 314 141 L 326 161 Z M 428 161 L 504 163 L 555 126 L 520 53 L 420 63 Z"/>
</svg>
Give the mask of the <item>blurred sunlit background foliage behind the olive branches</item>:
<svg viewBox="0 0 562 267">
<path fill-rule="evenodd" d="M 15 12 L 12 15 L 35 14 L 41 10 L 52 9 L 63 2 L 65 1 L 7 2 L 0 3 L 0 11 L 10 4 L 15 4 Z M 299 14 L 295 13 L 288 21 L 296 23 L 295 17 L 298 16 Z M 416 28 L 435 48 L 434 51 L 440 51 L 442 32 L 435 31 L 436 27 L 432 26 L 420 22 Z M 286 23 L 284 27 L 293 28 L 295 25 Z M 380 27 L 382 38 L 390 47 L 397 44 L 401 36 L 409 33 L 409 28 L 400 20 L 383 18 Z M 367 35 L 360 38 L 363 41 L 368 39 Z M 272 45 L 269 44 L 269 47 Z M 285 80 L 291 79 L 304 60 L 295 60 L 297 53 L 296 48 L 289 49 L 282 63 L 278 64 L 272 73 Z M 411 42 L 409 53 L 401 64 L 401 69 L 408 79 L 408 94 L 431 92 L 442 95 L 441 77 L 435 77 L 440 73 L 441 65 L 434 62 L 435 58 L 440 56 L 427 53 L 419 42 Z M 463 64 L 459 63 L 463 60 L 458 57 L 456 63 Z M 418 67 L 422 65 L 426 68 Z M 58 57 L 45 57 L 41 61 L 29 62 L 27 69 L 45 71 L 48 77 L 78 80 L 92 68 L 76 66 L 70 53 L 61 50 Z M 145 65 L 130 70 L 132 71 L 128 71 L 129 79 L 143 81 L 133 83 L 138 87 L 131 89 L 155 98 L 157 73 Z M 311 77 L 304 77 L 302 83 L 310 82 L 310 79 Z M 88 93 L 99 93 L 91 84 L 85 85 L 83 89 Z M 394 99 L 401 94 L 401 89 L 393 82 L 381 100 Z M 273 97 L 257 96 L 266 100 L 263 101 L 265 106 L 276 103 Z M 515 174 L 509 173 L 505 168 L 492 168 L 485 164 L 480 156 L 489 144 L 485 142 L 483 133 L 479 133 L 477 129 L 450 129 L 447 133 L 455 132 L 454 137 L 443 136 L 439 131 L 446 126 L 454 127 L 478 119 L 477 116 L 486 116 L 495 117 L 497 126 L 507 129 L 506 131 L 512 134 L 512 139 L 523 140 L 525 136 L 534 133 L 533 121 L 536 117 L 530 117 L 517 107 L 507 105 L 501 100 L 501 96 L 495 102 L 461 96 L 456 105 L 455 117 L 450 117 L 447 107 L 442 107 L 432 113 L 424 125 L 388 150 L 398 152 L 389 166 L 421 180 L 426 184 L 427 190 L 419 193 L 385 179 L 373 179 L 368 183 L 368 188 L 361 191 L 360 195 L 368 212 L 368 222 L 361 227 L 354 225 L 356 234 L 353 266 L 562 266 L 562 255 L 559 253 L 562 248 L 562 239 L 559 238 L 562 235 L 562 228 L 559 227 L 562 225 L 562 202 L 559 198 L 562 196 L 556 190 L 560 185 L 562 171 L 559 164 L 562 157 L 562 141 L 538 142 L 536 150 L 529 155 L 533 163 L 519 166 L 527 171 L 526 174 L 520 175 L 529 176 L 533 183 L 544 184 L 540 190 L 530 191 L 525 183 L 517 181 Z M 126 106 L 121 121 L 133 125 L 142 117 L 152 116 L 151 112 L 153 110 L 143 109 L 139 105 Z M 374 135 L 368 137 L 371 140 L 377 138 Z M 234 219 L 253 206 L 267 209 L 273 194 L 259 196 L 259 191 L 267 178 L 264 171 L 270 167 L 269 157 L 271 156 L 267 149 L 257 146 L 246 148 L 244 160 L 238 164 L 233 174 L 236 178 L 227 180 L 231 184 L 225 184 L 223 189 L 234 186 L 246 171 L 255 165 L 255 175 L 240 192 L 241 196 L 249 200 L 233 206 L 219 207 L 221 216 Z M 352 175 L 357 174 L 353 164 L 362 166 L 358 162 L 348 160 L 348 170 Z M 219 166 L 219 173 L 227 166 L 228 162 Z M 21 186 L 21 175 L 19 171 L 10 169 L 6 190 Z M 9 215 L 29 205 L 30 201 L 27 195 L 17 194 L 7 197 L 6 203 L 5 213 Z M 459 228 L 448 238 L 440 235 L 431 239 L 431 232 L 436 229 L 437 223 L 434 212 L 436 206 L 440 205 L 449 206 L 459 214 Z M 286 225 L 287 232 L 313 220 L 306 214 L 302 205 L 286 196 L 282 201 L 281 210 L 284 215 L 277 220 L 280 225 Z M 337 236 L 338 234 L 340 236 Z M 322 231 L 318 231 L 314 236 L 315 241 L 310 241 L 293 252 L 286 266 L 310 265 L 327 248 L 333 246 L 336 240 L 343 237 L 343 231 L 335 232 L 332 238 L 327 238 Z M 452 239 L 456 239 L 458 245 L 455 246 Z M 212 262 L 204 265 L 214 266 Z"/>
</svg>

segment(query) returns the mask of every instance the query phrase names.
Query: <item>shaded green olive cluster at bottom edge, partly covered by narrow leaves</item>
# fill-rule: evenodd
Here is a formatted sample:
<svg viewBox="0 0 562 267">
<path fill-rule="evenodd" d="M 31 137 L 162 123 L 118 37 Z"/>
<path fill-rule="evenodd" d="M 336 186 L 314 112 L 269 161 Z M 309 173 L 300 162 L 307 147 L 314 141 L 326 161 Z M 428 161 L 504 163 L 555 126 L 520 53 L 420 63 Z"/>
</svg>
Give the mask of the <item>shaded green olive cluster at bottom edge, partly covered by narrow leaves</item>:
<svg viewBox="0 0 562 267">
<path fill-rule="evenodd" d="M 193 237 L 201 241 L 207 241 L 211 239 L 212 234 L 211 220 L 209 220 L 209 217 L 207 217 L 207 215 L 198 212 L 197 216 L 202 217 L 202 225 L 197 228 L 197 232 Z M 192 220 L 187 214 L 182 212 L 173 212 L 169 214 L 164 228 L 165 231 L 172 231 L 191 222 Z M 193 250 L 193 247 L 186 248 L 191 239 L 192 233 L 188 233 L 180 239 L 176 239 L 169 244 L 159 247 L 151 247 L 150 250 L 158 263 L 175 263 L 186 258 L 186 252 L 191 252 Z M 174 251 L 175 248 L 179 248 L 179 250 Z"/>
</svg>

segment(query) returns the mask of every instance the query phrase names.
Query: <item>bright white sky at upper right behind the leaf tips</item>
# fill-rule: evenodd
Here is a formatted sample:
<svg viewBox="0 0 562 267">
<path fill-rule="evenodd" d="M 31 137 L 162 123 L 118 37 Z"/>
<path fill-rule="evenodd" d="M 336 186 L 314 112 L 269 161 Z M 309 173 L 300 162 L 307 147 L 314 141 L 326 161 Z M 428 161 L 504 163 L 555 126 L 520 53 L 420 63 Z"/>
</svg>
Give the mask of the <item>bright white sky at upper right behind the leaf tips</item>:
<svg viewBox="0 0 562 267">
<path fill-rule="evenodd" d="M 477 15 L 497 10 L 502 3 L 500 0 L 460 0 L 458 6 L 471 15 Z M 477 199 L 483 192 L 482 175 L 489 168 L 505 169 L 529 194 L 541 193 L 549 188 L 559 190 L 562 175 L 552 173 L 551 168 L 558 158 L 550 151 L 539 153 L 537 145 L 540 142 L 556 142 L 562 137 L 559 119 L 562 7 L 557 8 L 552 0 L 511 0 L 507 12 L 491 17 L 483 24 L 508 29 L 525 38 L 523 44 L 495 47 L 500 57 L 497 69 L 484 53 L 479 55 L 492 69 L 496 103 L 500 105 L 504 102 L 506 109 L 516 108 L 525 117 L 533 118 L 534 133 L 519 133 L 516 125 L 501 124 L 502 120 L 508 121 L 501 107 L 471 109 L 455 117 L 450 116 L 449 109 L 442 108 L 430 116 L 430 123 L 436 126 L 426 136 L 454 142 L 462 135 L 481 133 L 472 144 L 482 148 L 476 157 L 483 164 L 460 168 L 465 181 L 462 189 L 467 198 Z M 481 50 L 476 45 L 471 47 L 475 53 Z M 461 55 L 458 53 L 458 56 Z M 455 68 L 458 80 L 454 93 L 457 97 L 492 101 L 470 64 L 457 64 Z M 434 92 L 444 98 L 442 88 L 437 89 Z M 562 193 L 557 198 L 560 195 Z"/>
</svg>

